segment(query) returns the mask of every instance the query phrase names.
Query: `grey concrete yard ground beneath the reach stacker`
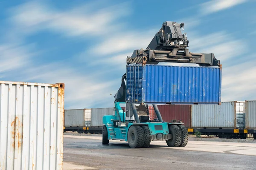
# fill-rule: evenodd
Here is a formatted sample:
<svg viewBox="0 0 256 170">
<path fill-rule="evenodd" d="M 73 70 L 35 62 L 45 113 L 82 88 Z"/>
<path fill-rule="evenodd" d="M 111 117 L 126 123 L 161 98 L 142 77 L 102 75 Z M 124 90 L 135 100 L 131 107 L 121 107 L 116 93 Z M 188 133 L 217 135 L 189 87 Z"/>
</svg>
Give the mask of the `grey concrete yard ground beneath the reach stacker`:
<svg viewBox="0 0 256 170">
<path fill-rule="evenodd" d="M 186 147 L 151 142 L 102 145 L 101 136 L 64 135 L 64 170 L 256 170 L 256 143 L 192 141 Z"/>
</svg>

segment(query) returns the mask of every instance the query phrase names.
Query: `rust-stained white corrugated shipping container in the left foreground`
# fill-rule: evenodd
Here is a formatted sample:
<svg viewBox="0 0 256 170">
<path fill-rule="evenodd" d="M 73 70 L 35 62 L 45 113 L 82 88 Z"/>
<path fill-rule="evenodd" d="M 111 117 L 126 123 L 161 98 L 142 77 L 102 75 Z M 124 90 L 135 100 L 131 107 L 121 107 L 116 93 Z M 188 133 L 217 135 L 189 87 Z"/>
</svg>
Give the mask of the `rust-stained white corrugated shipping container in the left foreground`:
<svg viewBox="0 0 256 170">
<path fill-rule="evenodd" d="M 64 84 L 0 82 L 0 169 L 62 170 Z"/>
</svg>

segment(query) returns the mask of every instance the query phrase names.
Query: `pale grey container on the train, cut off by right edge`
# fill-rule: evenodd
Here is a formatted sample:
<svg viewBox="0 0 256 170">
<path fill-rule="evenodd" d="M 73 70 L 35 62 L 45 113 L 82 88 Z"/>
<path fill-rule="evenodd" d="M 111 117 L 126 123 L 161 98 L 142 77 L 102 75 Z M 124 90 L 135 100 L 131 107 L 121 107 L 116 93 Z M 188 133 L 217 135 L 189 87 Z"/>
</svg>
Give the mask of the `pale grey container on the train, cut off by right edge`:
<svg viewBox="0 0 256 170">
<path fill-rule="evenodd" d="M 246 128 L 256 129 L 256 100 L 245 101 Z"/>
</svg>

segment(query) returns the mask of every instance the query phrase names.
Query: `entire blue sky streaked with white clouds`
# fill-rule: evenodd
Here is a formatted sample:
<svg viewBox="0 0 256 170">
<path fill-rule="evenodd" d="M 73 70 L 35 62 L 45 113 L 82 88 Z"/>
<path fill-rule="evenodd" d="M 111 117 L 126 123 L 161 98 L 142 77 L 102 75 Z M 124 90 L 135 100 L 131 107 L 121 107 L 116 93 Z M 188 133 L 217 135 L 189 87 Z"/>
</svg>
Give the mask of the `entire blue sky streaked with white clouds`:
<svg viewBox="0 0 256 170">
<path fill-rule="evenodd" d="M 256 99 L 256 0 L 0 0 L 0 79 L 65 83 L 65 108 L 113 106 L 126 56 L 165 21 L 221 60 L 222 102 Z M 110 94 L 113 94 L 112 96 Z"/>
</svg>

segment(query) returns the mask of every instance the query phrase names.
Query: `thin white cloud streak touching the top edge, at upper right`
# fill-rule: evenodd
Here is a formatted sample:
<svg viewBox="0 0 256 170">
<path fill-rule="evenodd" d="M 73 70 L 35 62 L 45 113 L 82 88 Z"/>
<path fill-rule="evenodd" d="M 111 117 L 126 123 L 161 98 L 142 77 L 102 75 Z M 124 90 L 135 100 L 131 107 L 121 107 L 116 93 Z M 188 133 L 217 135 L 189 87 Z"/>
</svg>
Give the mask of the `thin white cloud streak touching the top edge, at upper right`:
<svg viewBox="0 0 256 170">
<path fill-rule="evenodd" d="M 211 0 L 201 4 L 202 14 L 211 14 L 239 4 L 245 3 L 247 0 Z"/>
</svg>

